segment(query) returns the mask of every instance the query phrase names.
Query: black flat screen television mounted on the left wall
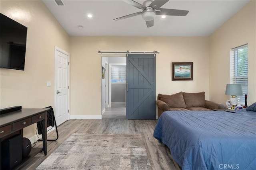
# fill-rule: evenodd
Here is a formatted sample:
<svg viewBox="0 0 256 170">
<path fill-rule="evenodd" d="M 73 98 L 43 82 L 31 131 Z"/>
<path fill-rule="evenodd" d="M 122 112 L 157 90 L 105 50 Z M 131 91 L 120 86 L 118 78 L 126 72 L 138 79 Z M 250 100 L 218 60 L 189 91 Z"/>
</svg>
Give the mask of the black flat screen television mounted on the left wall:
<svg viewBox="0 0 256 170">
<path fill-rule="evenodd" d="M 24 70 L 28 28 L 1 14 L 0 67 Z"/>
</svg>

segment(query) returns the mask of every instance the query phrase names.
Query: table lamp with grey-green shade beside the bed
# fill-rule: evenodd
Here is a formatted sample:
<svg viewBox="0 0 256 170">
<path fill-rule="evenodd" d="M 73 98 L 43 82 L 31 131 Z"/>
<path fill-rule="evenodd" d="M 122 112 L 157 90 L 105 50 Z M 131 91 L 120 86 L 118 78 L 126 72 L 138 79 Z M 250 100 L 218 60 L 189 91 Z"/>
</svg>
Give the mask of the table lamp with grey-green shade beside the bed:
<svg viewBox="0 0 256 170">
<path fill-rule="evenodd" d="M 237 105 L 238 99 L 236 96 L 242 96 L 243 90 L 241 84 L 227 84 L 226 86 L 226 95 L 232 96 L 230 98 L 230 104 L 232 105 L 231 110 L 235 109 L 235 106 Z"/>
</svg>

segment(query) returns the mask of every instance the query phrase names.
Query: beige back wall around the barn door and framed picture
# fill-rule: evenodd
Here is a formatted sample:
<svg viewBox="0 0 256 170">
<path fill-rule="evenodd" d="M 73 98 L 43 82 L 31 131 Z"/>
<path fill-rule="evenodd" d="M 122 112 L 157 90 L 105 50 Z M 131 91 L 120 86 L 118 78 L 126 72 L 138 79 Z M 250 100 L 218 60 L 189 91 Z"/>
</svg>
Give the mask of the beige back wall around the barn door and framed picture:
<svg viewBox="0 0 256 170">
<path fill-rule="evenodd" d="M 71 115 L 101 115 L 98 50 L 160 51 L 156 95 L 204 91 L 209 98 L 208 37 L 70 37 Z M 172 81 L 172 62 L 194 62 L 194 81 Z"/>
</svg>

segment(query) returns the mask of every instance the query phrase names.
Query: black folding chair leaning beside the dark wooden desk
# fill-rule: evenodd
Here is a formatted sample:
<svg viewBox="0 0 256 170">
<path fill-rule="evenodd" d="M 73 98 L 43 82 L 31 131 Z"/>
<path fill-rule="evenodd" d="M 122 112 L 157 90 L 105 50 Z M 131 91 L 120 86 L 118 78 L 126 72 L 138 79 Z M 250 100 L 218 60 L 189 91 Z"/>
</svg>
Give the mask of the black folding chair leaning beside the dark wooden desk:
<svg viewBox="0 0 256 170">
<path fill-rule="evenodd" d="M 48 106 L 48 107 L 44 107 L 44 108 L 48 108 L 50 110 L 47 111 L 47 127 L 54 127 L 56 128 L 56 133 L 57 133 L 57 139 L 59 138 L 59 134 L 58 134 L 58 129 L 57 129 L 57 124 L 56 124 L 56 120 L 55 120 L 55 116 L 54 116 L 54 111 L 52 106 Z M 37 130 L 38 130 L 38 134 L 41 135 L 42 134 L 42 121 L 37 122 Z M 56 141 L 57 139 L 47 139 L 47 141 Z M 42 139 L 38 139 L 38 141 L 43 141 Z"/>
</svg>

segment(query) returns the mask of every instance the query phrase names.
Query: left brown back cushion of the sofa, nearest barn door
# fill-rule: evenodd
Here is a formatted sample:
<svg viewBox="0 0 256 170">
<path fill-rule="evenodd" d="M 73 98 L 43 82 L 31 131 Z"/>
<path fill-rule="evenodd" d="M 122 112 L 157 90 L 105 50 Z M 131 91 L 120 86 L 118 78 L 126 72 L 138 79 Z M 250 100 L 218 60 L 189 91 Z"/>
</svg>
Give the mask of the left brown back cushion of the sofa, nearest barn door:
<svg viewBox="0 0 256 170">
<path fill-rule="evenodd" d="M 168 95 L 168 94 L 158 94 L 159 100 L 165 102 L 168 107 L 183 107 L 186 108 L 186 104 L 183 99 L 182 92 Z"/>
</svg>

